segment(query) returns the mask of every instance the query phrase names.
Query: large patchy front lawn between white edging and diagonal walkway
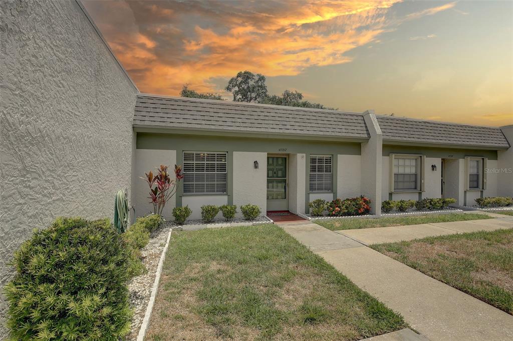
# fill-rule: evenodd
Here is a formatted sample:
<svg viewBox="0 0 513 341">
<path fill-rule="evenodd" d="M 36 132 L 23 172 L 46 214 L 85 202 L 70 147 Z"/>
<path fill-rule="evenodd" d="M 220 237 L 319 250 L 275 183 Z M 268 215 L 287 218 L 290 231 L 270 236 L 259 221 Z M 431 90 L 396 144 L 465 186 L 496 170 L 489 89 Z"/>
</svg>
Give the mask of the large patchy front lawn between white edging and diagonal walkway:
<svg viewBox="0 0 513 341">
<path fill-rule="evenodd" d="M 147 340 L 357 340 L 406 327 L 275 225 L 173 232 Z"/>
</svg>

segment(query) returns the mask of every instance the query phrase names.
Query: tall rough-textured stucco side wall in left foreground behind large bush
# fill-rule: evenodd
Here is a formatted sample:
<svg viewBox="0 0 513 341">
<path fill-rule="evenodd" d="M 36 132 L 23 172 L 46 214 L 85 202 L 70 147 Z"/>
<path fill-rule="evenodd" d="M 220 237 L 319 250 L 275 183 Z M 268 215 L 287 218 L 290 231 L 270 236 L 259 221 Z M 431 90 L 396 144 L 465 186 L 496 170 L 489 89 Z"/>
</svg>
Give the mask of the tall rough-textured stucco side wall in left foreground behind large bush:
<svg viewBox="0 0 513 341">
<path fill-rule="evenodd" d="M 136 89 L 74 1 L 0 2 L 0 79 L 3 287 L 33 228 L 112 218 L 130 187 Z M 5 309 L 0 296 L 0 320 Z"/>
</svg>

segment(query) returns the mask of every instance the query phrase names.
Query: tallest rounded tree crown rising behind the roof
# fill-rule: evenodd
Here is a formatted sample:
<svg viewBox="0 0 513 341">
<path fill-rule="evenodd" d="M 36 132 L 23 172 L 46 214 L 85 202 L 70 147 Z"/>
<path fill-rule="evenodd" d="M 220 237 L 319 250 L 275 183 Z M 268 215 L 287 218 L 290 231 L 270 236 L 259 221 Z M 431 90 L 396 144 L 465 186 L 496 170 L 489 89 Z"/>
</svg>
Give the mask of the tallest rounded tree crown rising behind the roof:
<svg viewBox="0 0 513 341">
<path fill-rule="evenodd" d="M 265 76 L 249 71 L 241 71 L 228 81 L 225 88 L 233 94 L 234 102 L 260 103 L 267 97 Z"/>
</svg>

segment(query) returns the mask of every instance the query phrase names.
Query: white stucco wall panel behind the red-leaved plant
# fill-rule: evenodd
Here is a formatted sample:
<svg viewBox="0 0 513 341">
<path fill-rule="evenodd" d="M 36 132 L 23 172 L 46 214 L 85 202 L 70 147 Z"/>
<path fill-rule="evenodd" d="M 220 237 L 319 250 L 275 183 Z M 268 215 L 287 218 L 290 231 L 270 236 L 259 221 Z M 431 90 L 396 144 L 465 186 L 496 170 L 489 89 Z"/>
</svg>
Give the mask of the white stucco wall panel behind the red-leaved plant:
<svg viewBox="0 0 513 341">
<path fill-rule="evenodd" d="M 145 177 L 145 173 L 152 171 L 156 173 L 155 167 L 161 164 L 169 166 L 170 171 L 174 172 L 174 165 L 176 164 L 176 151 L 171 150 L 157 150 L 157 149 L 137 149 L 135 150 L 135 168 L 132 174 L 133 178 L 133 192 L 132 204 L 135 205 L 135 214 L 137 217 L 146 216 L 153 212 L 153 205 L 149 202 L 149 186 L 148 183 L 141 179 Z M 174 175 L 174 173 L 173 173 Z M 179 186 L 182 184 L 180 183 Z M 172 197 L 164 207 L 164 218 L 166 220 L 173 220 L 173 208 L 176 204 L 176 196 Z"/>
</svg>

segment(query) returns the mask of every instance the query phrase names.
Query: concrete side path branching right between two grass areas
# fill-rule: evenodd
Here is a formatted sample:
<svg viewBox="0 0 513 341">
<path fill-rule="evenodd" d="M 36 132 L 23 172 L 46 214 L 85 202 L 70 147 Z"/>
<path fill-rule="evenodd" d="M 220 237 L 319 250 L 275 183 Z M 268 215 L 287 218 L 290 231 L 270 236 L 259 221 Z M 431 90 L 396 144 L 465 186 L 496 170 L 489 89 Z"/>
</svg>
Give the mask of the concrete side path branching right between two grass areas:
<svg viewBox="0 0 513 341">
<path fill-rule="evenodd" d="M 513 217 L 429 223 L 406 226 L 372 227 L 335 231 L 340 235 L 359 241 L 365 245 L 392 243 L 425 237 L 453 235 L 456 233 L 494 231 L 513 228 Z"/>
</svg>

